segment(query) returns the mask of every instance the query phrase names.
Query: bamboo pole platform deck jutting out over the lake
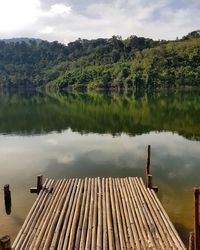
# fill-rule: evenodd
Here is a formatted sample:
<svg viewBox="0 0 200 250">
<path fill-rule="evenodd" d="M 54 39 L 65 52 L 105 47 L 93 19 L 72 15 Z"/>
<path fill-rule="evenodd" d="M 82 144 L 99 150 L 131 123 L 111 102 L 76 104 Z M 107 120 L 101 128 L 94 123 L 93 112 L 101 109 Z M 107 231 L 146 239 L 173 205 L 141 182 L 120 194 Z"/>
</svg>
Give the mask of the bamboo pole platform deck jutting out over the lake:
<svg viewBox="0 0 200 250">
<path fill-rule="evenodd" d="M 141 178 L 47 179 L 13 249 L 186 249 Z"/>
</svg>

